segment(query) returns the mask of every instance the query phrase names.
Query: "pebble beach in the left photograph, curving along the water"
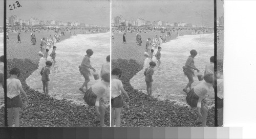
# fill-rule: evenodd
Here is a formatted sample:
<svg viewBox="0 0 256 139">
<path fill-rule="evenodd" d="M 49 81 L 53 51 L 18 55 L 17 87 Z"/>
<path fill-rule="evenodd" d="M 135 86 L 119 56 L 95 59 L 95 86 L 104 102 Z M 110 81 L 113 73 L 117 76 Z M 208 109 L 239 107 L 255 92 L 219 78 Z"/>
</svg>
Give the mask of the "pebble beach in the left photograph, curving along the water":
<svg viewBox="0 0 256 139">
<path fill-rule="evenodd" d="M 39 34 L 39 35 L 38 35 Z M 37 33 L 36 37 L 46 37 L 47 33 Z M 53 34 L 53 33 L 52 33 Z M 27 36 L 27 40 L 23 41 L 22 37 Z M 20 77 L 18 78 L 23 85 L 24 91 L 29 98 L 29 105 L 23 106 L 20 110 L 20 126 L 32 126 L 32 127 L 95 127 L 99 124 L 95 121 L 95 109 L 94 107 L 85 107 L 85 105 L 78 106 L 72 104 L 71 101 L 66 99 L 55 99 L 52 97 L 45 97 L 38 91 L 30 89 L 26 84 L 26 78 L 38 69 L 39 59 L 38 51 L 40 49 L 39 42 L 36 45 L 30 43 L 30 33 L 22 34 L 22 43 L 16 42 L 16 37 L 9 34 L 10 42 L 7 43 L 7 73 L 11 68 L 17 67 L 20 69 Z M 69 39 L 70 34 L 67 34 L 65 38 L 61 37 L 61 41 Z M 12 42 L 11 42 L 12 40 Z M 39 39 L 37 39 L 38 41 Z M 30 44 L 30 45 L 28 45 Z M 17 46 L 22 45 L 22 47 Z M 17 51 L 20 51 L 17 53 Z M 28 50 L 28 51 L 26 51 Z M 15 53 L 16 51 L 16 53 Z M 13 54 L 15 53 L 15 54 Z M 21 54 L 20 54 L 21 53 Z M 25 54 L 24 54 L 25 53 Z M 9 76 L 9 75 L 8 75 Z M 22 97 L 24 102 L 24 97 Z M 105 114 L 105 124 L 109 125 L 109 108 L 106 108 L 108 112 Z M 2 109 L 1 109 L 2 111 Z M 0 112 L 1 113 L 1 112 Z"/>
</svg>

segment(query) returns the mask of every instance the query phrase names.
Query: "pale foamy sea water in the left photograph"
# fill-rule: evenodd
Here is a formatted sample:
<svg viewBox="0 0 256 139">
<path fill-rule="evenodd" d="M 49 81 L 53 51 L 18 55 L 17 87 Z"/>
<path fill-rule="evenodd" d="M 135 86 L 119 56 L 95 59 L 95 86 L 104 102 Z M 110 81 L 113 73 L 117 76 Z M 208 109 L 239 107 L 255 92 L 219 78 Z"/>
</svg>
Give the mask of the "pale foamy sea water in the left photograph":
<svg viewBox="0 0 256 139">
<path fill-rule="evenodd" d="M 56 64 L 50 68 L 49 95 L 57 99 L 70 100 L 78 105 L 86 104 L 83 100 L 84 93 L 79 90 L 84 82 L 84 77 L 80 74 L 78 66 L 81 65 L 86 50 L 92 49 L 94 53 L 90 58 L 91 66 L 100 73 L 102 64 L 106 63 L 106 56 L 110 54 L 110 33 L 72 36 L 55 46 L 57 47 Z M 50 55 L 48 61 L 51 61 Z M 41 58 L 38 69 L 26 79 L 26 83 L 31 89 L 41 93 L 44 91 L 42 90 L 40 71 L 42 67 L 46 66 L 45 63 L 46 60 Z M 90 76 L 88 87 L 90 88 L 100 80 L 94 80 L 94 77 Z M 109 92 L 103 98 L 109 101 Z"/>
</svg>

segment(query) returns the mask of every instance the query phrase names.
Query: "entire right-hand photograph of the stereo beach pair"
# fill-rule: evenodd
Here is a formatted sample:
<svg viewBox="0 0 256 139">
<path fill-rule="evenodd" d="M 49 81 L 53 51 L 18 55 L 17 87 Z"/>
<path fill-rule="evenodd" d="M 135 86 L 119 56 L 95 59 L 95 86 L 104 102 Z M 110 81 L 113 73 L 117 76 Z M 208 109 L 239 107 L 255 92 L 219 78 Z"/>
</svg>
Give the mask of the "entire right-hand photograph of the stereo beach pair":
<svg viewBox="0 0 256 139">
<path fill-rule="evenodd" d="M 112 1 L 112 127 L 215 126 L 214 6 Z"/>
</svg>

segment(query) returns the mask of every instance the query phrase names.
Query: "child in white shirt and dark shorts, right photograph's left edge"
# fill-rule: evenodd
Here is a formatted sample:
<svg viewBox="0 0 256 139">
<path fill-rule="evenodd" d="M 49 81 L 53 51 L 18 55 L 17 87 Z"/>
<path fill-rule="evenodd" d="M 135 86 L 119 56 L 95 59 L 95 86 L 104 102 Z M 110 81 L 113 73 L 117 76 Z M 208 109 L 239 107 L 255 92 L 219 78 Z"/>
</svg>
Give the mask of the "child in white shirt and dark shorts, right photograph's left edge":
<svg viewBox="0 0 256 139">
<path fill-rule="evenodd" d="M 122 81 L 119 79 L 121 77 L 121 70 L 115 68 L 112 70 L 112 90 L 111 90 L 111 127 L 114 126 L 114 119 L 116 116 L 116 127 L 121 125 L 121 108 L 124 105 L 122 94 L 125 96 L 128 102 L 130 98 L 123 89 Z"/>
</svg>

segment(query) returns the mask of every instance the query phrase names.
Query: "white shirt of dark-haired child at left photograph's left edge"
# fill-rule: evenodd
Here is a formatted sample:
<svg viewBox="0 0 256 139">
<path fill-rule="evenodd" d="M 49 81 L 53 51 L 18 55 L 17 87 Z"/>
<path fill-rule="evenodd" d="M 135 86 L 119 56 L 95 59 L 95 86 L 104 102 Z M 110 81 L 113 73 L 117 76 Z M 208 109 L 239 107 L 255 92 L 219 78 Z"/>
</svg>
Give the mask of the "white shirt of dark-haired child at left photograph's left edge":
<svg viewBox="0 0 256 139">
<path fill-rule="evenodd" d="M 7 82 L 7 97 L 14 98 L 20 94 L 19 87 L 22 86 L 22 83 L 19 79 L 8 78 Z"/>
</svg>

